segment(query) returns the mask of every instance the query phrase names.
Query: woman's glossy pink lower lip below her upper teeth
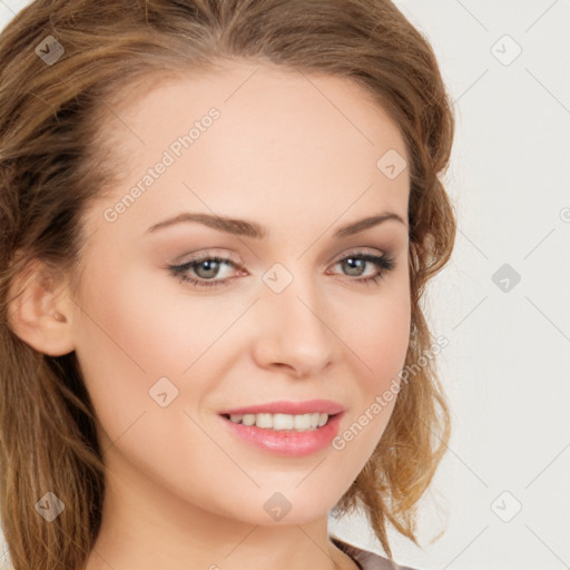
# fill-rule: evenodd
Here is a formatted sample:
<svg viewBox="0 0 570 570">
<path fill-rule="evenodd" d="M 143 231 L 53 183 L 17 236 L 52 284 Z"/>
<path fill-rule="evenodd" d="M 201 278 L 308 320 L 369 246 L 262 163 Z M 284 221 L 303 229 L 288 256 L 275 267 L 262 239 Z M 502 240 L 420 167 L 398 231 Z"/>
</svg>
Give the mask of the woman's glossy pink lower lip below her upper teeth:
<svg viewBox="0 0 570 570">
<path fill-rule="evenodd" d="M 307 432 L 265 430 L 255 425 L 234 423 L 222 415 L 219 417 L 222 417 L 233 433 L 256 448 L 278 455 L 297 458 L 311 455 L 327 448 L 338 433 L 343 415 L 344 412 L 341 412 L 334 417 L 330 417 L 328 422 L 322 428 Z"/>
</svg>

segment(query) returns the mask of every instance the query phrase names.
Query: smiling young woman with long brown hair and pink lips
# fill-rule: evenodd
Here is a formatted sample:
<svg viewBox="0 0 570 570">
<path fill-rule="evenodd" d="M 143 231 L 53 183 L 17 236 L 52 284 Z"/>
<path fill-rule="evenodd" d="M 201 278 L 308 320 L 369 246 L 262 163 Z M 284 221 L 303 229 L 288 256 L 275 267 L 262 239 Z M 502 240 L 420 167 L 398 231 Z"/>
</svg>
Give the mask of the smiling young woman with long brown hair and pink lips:
<svg viewBox="0 0 570 570">
<path fill-rule="evenodd" d="M 13 567 L 403 568 L 450 433 L 422 35 L 377 0 L 38 0 L 0 58 Z M 328 534 L 356 508 L 387 558 Z"/>
</svg>

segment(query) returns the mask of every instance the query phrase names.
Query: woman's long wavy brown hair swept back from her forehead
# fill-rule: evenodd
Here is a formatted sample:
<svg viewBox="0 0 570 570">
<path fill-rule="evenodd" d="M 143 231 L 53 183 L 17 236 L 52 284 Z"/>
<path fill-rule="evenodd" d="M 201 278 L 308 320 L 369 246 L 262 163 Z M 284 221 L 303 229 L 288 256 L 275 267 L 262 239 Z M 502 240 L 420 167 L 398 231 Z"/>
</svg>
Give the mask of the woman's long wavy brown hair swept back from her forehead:
<svg viewBox="0 0 570 570">
<path fill-rule="evenodd" d="M 65 50 L 51 65 L 36 51 L 48 35 Z M 81 216 L 120 179 L 120 164 L 105 151 L 102 126 L 114 106 L 165 73 L 207 71 L 236 58 L 350 78 L 400 127 L 411 176 L 405 365 L 426 361 L 433 338 L 420 298 L 455 236 L 440 180 L 454 119 L 432 48 L 394 4 L 36 0 L 0 35 L 0 501 L 16 570 L 82 568 L 105 497 L 96 414 L 75 352 L 41 354 L 13 333 L 16 278 L 33 261 L 55 275 L 77 275 Z M 390 557 L 386 523 L 416 542 L 414 509 L 450 435 L 434 361 L 414 371 L 374 453 L 334 509 L 338 515 L 361 503 Z M 33 508 L 47 492 L 66 507 L 50 523 Z"/>
</svg>

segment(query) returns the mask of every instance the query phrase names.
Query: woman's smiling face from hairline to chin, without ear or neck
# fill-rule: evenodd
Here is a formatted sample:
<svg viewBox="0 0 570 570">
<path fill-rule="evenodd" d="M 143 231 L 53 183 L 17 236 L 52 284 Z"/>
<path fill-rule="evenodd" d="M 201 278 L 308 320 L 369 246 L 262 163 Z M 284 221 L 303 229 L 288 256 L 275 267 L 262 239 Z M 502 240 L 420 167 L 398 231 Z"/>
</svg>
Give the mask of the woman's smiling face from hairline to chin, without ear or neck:
<svg viewBox="0 0 570 570">
<path fill-rule="evenodd" d="M 139 92 L 105 128 L 125 184 L 86 213 L 72 331 L 116 489 L 261 525 L 326 514 L 409 344 L 399 130 L 348 80 L 246 63 Z M 314 400 L 341 413 L 296 435 L 220 415 Z"/>
</svg>

